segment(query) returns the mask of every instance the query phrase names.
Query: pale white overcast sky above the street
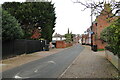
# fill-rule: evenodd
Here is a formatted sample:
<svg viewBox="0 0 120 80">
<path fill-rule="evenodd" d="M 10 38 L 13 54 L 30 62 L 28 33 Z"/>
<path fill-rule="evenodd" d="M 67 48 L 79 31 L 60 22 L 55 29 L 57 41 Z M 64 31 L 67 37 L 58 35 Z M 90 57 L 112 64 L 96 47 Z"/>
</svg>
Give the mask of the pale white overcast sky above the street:
<svg viewBox="0 0 120 80">
<path fill-rule="evenodd" d="M 0 0 L 0 4 L 9 1 L 25 0 Z M 82 34 L 91 25 L 90 9 L 81 11 L 84 6 L 79 3 L 73 3 L 75 0 L 52 0 L 56 9 L 56 27 L 55 33 L 65 34 L 69 28 L 74 34 Z M 82 2 L 90 0 L 80 0 Z M 96 0 L 95 0 L 96 1 Z M 99 0 L 97 0 L 99 1 Z M 94 17 L 95 18 L 95 17 Z"/>
</svg>

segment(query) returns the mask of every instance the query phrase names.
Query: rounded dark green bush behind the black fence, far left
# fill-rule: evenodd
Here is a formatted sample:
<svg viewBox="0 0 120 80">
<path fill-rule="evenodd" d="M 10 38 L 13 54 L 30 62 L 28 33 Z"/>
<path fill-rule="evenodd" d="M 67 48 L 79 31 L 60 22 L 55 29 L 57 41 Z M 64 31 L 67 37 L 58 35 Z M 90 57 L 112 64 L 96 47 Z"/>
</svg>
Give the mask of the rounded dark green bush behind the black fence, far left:
<svg viewBox="0 0 120 80">
<path fill-rule="evenodd" d="M 2 11 L 2 40 L 6 41 L 21 38 L 23 32 L 15 17 L 11 16 L 5 10 L 1 9 L 0 11 Z"/>
</svg>

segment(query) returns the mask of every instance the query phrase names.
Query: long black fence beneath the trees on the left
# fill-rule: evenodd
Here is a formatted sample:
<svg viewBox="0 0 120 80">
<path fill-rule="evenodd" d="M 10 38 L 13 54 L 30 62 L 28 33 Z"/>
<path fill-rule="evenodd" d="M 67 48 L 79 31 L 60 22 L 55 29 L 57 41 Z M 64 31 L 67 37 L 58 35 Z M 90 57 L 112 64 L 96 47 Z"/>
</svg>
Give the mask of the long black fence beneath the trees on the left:
<svg viewBox="0 0 120 80">
<path fill-rule="evenodd" d="M 45 41 L 42 40 L 13 40 L 2 42 L 2 59 L 24 53 L 42 51 Z"/>
</svg>

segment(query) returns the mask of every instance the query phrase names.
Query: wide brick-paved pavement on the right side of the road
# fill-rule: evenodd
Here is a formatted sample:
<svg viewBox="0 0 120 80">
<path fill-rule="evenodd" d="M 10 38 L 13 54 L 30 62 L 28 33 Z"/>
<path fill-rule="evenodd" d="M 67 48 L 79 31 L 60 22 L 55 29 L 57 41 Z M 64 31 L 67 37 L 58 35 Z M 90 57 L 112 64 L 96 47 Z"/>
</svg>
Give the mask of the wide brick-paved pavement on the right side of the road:
<svg viewBox="0 0 120 80">
<path fill-rule="evenodd" d="M 84 47 L 85 49 L 63 72 L 60 78 L 118 77 L 118 70 L 106 59 L 104 51 L 93 52 L 90 46 Z"/>
</svg>

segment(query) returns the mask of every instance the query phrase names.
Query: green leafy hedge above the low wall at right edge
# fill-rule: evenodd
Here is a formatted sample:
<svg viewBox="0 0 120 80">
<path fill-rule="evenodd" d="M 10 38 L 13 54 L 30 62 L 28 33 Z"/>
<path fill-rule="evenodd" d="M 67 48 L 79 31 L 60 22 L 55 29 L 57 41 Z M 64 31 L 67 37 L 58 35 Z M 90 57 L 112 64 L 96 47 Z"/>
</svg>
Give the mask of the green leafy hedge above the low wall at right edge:
<svg viewBox="0 0 120 80">
<path fill-rule="evenodd" d="M 106 49 L 120 57 L 120 18 L 101 32 L 101 39 L 108 43 Z"/>
</svg>

